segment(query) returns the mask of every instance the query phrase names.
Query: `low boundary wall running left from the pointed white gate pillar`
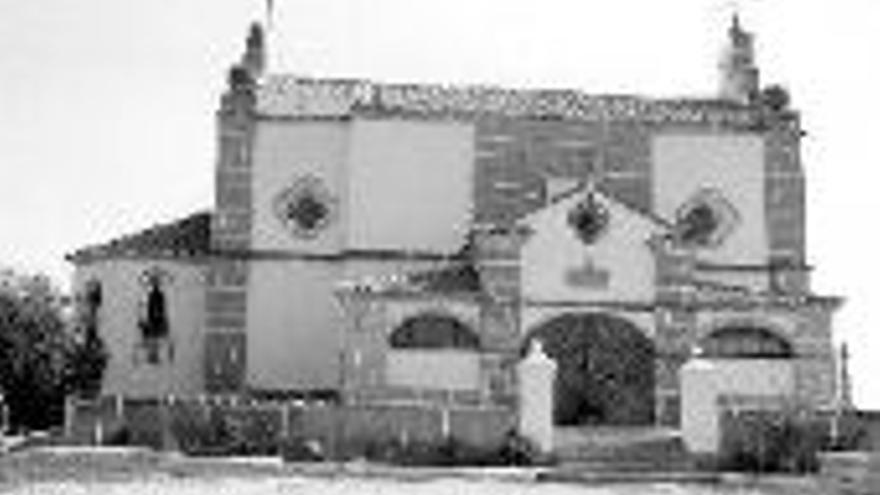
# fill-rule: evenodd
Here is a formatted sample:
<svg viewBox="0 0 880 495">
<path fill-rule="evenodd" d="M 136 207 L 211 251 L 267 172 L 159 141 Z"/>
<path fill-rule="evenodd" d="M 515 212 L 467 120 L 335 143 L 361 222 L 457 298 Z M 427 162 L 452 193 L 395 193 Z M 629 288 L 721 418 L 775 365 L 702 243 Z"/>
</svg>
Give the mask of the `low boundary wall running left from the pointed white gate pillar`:
<svg viewBox="0 0 880 495">
<path fill-rule="evenodd" d="M 388 443 L 495 448 L 515 428 L 512 410 L 430 403 L 355 404 L 257 401 L 204 396 L 151 399 L 105 396 L 68 401 L 65 436 L 74 444 L 128 444 L 210 454 L 274 453 L 290 442 L 327 458 L 351 457 Z"/>
</svg>

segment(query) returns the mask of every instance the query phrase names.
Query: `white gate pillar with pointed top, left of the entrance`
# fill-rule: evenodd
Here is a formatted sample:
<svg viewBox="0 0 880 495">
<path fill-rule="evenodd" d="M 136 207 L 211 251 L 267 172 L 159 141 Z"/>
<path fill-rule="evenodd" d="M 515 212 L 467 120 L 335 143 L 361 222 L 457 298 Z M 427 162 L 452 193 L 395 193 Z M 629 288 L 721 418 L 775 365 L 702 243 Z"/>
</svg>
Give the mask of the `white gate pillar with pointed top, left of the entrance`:
<svg viewBox="0 0 880 495">
<path fill-rule="evenodd" d="M 556 363 L 538 339 L 518 366 L 519 431 L 543 452 L 553 450 L 553 382 Z"/>
</svg>

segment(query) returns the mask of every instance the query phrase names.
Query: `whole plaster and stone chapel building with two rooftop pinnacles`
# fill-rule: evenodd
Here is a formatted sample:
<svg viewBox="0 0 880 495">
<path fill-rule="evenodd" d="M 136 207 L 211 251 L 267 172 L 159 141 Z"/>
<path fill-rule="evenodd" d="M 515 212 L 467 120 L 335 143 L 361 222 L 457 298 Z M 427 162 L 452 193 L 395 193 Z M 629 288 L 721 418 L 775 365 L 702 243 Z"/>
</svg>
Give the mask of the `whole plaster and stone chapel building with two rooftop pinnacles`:
<svg viewBox="0 0 880 495">
<path fill-rule="evenodd" d="M 540 339 L 559 424 L 677 424 L 695 356 L 835 399 L 799 114 L 736 19 L 706 98 L 306 78 L 266 54 L 254 25 L 213 209 L 69 256 L 104 394 L 515 407 Z"/>
</svg>

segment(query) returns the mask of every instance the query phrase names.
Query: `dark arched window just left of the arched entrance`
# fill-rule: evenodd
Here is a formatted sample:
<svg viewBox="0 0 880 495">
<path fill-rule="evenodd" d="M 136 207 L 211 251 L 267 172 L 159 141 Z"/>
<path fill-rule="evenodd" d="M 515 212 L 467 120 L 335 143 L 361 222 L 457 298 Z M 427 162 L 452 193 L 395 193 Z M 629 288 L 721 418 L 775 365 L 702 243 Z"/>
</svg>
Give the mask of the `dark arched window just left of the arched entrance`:
<svg viewBox="0 0 880 495">
<path fill-rule="evenodd" d="M 465 324 L 444 315 L 426 314 L 405 320 L 389 338 L 394 349 L 473 349 L 480 340 Z"/>
</svg>

